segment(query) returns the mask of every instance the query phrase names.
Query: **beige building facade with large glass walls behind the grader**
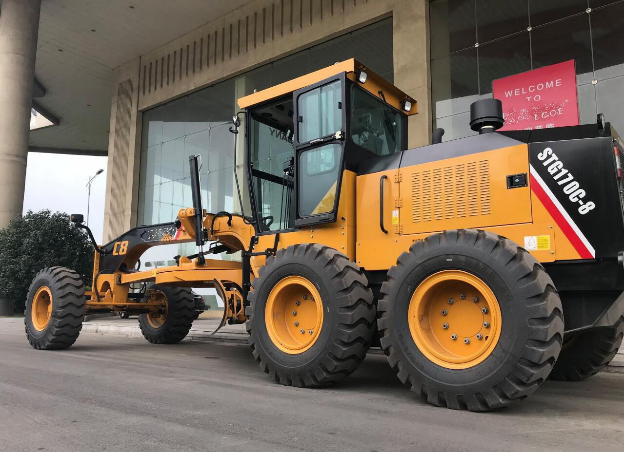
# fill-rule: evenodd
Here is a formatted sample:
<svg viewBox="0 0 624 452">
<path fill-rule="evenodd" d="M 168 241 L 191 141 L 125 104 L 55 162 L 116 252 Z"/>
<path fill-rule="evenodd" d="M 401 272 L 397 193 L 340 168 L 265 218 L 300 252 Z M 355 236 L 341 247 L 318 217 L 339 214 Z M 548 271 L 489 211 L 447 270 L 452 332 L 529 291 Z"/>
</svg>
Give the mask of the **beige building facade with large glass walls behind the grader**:
<svg viewBox="0 0 624 452">
<path fill-rule="evenodd" d="M 250 1 L 115 71 L 104 239 L 191 205 L 192 154 L 205 207 L 240 211 L 236 99 L 351 57 L 418 101 L 410 148 L 436 126 L 445 140 L 472 134 L 470 103 L 492 96 L 492 80 L 569 59 L 581 123 L 605 113 L 624 130 L 622 17 L 624 1 L 607 0 Z M 275 148 L 258 164 L 281 166 L 280 137 L 267 128 L 255 139 Z M 144 266 L 185 253 L 192 244 L 152 248 Z"/>
</svg>

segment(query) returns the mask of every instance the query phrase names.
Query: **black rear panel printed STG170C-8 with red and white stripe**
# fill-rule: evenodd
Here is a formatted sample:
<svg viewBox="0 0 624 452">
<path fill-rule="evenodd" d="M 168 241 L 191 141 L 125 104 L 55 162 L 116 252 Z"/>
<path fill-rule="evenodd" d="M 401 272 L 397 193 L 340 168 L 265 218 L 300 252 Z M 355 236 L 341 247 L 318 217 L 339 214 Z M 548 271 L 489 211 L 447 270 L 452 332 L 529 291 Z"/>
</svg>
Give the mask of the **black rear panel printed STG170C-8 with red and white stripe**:
<svg viewBox="0 0 624 452">
<path fill-rule="evenodd" d="M 531 189 L 582 258 L 624 251 L 624 222 L 611 136 L 529 143 Z"/>
</svg>

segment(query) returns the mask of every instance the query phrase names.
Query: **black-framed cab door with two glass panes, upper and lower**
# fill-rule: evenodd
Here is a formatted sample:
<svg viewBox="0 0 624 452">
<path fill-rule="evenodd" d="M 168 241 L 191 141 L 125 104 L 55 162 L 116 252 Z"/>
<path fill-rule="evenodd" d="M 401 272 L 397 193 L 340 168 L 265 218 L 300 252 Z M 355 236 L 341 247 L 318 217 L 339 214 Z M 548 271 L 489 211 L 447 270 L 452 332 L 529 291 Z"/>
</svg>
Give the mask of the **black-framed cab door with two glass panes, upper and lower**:
<svg viewBox="0 0 624 452">
<path fill-rule="evenodd" d="M 296 226 L 336 221 L 344 169 L 345 74 L 294 93 Z"/>
</svg>

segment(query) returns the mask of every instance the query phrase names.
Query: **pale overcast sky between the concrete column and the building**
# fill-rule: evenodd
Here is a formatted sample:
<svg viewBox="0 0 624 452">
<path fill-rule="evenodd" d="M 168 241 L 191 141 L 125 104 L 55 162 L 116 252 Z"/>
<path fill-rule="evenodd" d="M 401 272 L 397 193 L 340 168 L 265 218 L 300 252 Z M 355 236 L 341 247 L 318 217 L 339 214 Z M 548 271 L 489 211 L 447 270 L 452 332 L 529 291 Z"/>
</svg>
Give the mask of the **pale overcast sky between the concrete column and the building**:
<svg viewBox="0 0 624 452">
<path fill-rule="evenodd" d="M 102 243 L 106 157 L 28 153 L 24 213 L 49 209 L 52 212 L 83 214 L 87 219 L 87 182 L 98 169 L 104 169 L 91 183 L 89 227 Z"/>
</svg>

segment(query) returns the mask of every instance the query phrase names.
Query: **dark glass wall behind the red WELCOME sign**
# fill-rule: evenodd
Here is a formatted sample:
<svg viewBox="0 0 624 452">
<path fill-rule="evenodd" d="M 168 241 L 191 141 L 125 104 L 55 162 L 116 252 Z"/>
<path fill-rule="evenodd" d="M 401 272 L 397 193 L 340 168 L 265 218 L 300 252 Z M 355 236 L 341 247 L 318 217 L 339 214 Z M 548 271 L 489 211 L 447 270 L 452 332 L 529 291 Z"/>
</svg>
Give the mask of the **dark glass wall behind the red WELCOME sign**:
<svg viewBox="0 0 624 452">
<path fill-rule="evenodd" d="M 492 80 L 576 60 L 580 122 L 624 131 L 624 1 L 433 0 L 432 114 L 444 140 L 474 134 L 470 104 Z M 622 132 L 620 132 L 622 133 Z"/>
</svg>

